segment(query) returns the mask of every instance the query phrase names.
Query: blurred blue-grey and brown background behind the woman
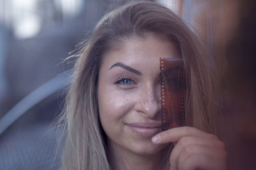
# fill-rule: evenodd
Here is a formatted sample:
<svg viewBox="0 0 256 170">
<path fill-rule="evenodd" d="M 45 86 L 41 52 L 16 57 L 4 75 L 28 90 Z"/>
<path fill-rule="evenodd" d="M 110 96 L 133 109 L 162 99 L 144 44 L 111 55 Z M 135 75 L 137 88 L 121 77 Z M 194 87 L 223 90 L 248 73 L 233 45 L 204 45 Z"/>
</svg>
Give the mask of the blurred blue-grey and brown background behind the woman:
<svg viewBox="0 0 256 170">
<path fill-rule="evenodd" d="M 255 169 L 255 1 L 155 1 L 175 11 L 218 63 L 216 127 L 227 146 L 228 169 Z M 53 122 L 74 65 L 74 59 L 63 60 L 104 13 L 127 2 L 0 0 L 0 169 L 60 168 L 61 128 Z"/>
</svg>

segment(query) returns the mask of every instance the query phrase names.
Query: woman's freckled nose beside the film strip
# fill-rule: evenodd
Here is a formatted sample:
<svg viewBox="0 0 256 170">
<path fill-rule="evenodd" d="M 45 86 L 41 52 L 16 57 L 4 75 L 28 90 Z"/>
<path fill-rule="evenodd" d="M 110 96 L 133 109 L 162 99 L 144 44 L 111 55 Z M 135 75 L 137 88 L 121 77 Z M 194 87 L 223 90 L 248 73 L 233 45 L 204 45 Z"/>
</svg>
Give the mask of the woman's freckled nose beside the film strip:
<svg viewBox="0 0 256 170">
<path fill-rule="evenodd" d="M 160 86 L 147 85 L 138 93 L 135 109 L 145 114 L 148 118 L 159 115 L 161 110 Z"/>
</svg>

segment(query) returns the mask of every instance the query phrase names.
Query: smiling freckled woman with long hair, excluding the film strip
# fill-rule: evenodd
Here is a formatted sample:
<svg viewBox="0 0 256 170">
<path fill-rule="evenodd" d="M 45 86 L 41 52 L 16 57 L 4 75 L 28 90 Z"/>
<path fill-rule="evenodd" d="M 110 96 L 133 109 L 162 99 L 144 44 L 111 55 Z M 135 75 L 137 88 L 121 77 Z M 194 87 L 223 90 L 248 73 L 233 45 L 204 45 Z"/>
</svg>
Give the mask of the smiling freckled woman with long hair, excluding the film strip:
<svg viewBox="0 0 256 170">
<path fill-rule="evenodd" d="M 187 80 L 187 126 L 164 132 L 159 57 L 182 57 Z M 156 3 L 122 6 L 100 20 L 77 59 L 62 168 L 225 169 L 214 99 L 214 74 L 188 27 Z"/>
</svg>

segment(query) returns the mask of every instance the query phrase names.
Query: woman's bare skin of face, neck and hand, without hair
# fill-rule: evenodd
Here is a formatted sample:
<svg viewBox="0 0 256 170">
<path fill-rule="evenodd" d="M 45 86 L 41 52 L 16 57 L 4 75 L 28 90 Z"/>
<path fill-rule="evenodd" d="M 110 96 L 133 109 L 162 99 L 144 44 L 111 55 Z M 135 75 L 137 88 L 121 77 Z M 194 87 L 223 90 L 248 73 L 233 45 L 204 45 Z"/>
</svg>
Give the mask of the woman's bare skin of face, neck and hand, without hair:
<svg viewBox="0 0 256 170">
<path fill-rule="evenodd" d="M 104 55 L 99 70 L 98 102 L 100 123 L 108 136 L 111 167 L 157 169 L 164 146 L 171 142 L 177 142 L 170 155 L 172 168 L 205 168 L 212 157 L 221 162 L 218 154 L 223 146 L 216 136 L 198 129 L 186 131 L 184 127 L 175 128 L 175 133 L 173 129 L 161 132 L 159 57 L 179 58 L 180 54 L 172 43 L 152 35 L 126 39 L 120 48 Z M 157 136 L 153 141 L 152 137 L 159 132 L 160 138 Z M 185 139 L 188 140 L 180 143 Z M 185 152 L 190 145 L 193 150 Z M 214 155 L 216 148 L 220 150 Z M 200 159 L 206 155 L 203 160 L 207 164 L 194 162 L 194 152 Z M 211 153 L 207 155 L 208 152 Z"/>
</svg>

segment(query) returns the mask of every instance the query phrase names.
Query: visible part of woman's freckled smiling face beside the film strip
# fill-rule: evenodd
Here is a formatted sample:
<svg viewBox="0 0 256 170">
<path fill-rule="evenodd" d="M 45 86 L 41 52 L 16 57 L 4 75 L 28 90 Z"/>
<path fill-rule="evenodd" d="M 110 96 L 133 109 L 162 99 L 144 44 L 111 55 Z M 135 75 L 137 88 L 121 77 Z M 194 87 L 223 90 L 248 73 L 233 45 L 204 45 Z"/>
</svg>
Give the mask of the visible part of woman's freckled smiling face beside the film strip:
<svg viewBox="0 0 256 170">
<path fill-rule="evenodd" d="M 175 46 L 156 36 L 132 37 L 104 55 L 99 71 L 99 117 L 108 145 L 139 155 L 157 153 L 161 131 L 160 57 L 177 58 Z"/>
</svg>

